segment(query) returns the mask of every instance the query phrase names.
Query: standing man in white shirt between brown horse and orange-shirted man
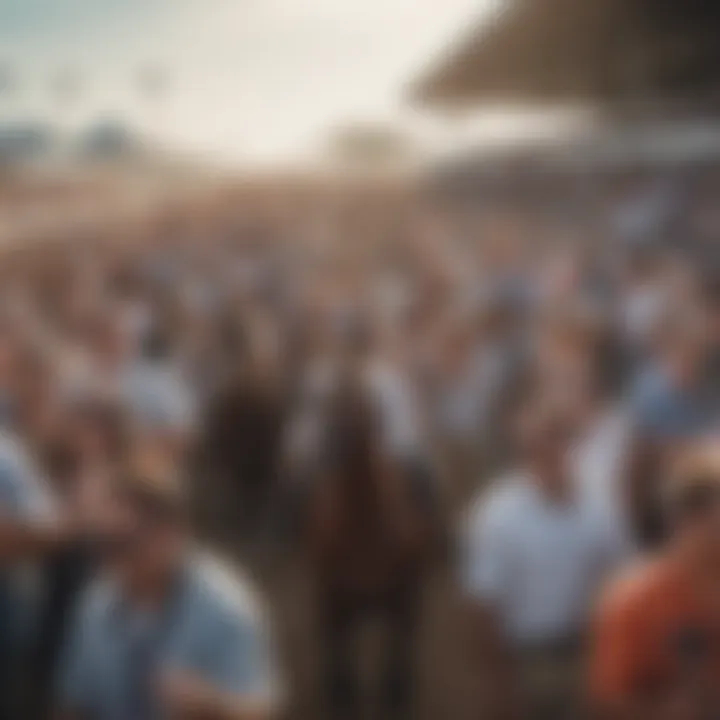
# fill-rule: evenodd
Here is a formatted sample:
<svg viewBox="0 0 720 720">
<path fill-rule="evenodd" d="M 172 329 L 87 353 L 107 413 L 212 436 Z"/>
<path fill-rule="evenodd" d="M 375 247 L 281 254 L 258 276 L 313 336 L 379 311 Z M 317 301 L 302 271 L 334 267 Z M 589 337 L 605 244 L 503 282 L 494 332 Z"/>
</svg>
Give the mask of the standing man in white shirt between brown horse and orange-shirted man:
<svg viewBox="0 0 720 720">
<path fill-rule="evenodd" d="M 474 683 L 491 718 L 577 713 L 582 634 L 616 547 L 576 491 L 571 427 L 566 407 L 533 401 L 520 422 L 522 468 L 470 510 L 463 584 Z"/>
</svg>

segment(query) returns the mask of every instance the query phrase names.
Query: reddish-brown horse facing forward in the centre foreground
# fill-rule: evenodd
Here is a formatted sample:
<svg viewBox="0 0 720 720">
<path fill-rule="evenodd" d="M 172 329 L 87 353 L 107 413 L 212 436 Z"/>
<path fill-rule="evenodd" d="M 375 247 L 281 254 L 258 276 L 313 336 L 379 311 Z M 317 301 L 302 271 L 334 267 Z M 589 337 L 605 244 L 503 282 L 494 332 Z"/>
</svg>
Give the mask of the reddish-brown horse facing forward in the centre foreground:
<svg viewBox="0 0 720 720">
<path fill-rule="evenodd" d="M 438 506 L 423 468 L 381 451 L 380 427 L 358 383 L 338 392 L 308 504 L 306 547 L 332 717 L 359 715 L 354 643 L 372 618 L 387 630 L 383 709 L 396 717 L 410 711 L 421 582 Z"/>
</svg>

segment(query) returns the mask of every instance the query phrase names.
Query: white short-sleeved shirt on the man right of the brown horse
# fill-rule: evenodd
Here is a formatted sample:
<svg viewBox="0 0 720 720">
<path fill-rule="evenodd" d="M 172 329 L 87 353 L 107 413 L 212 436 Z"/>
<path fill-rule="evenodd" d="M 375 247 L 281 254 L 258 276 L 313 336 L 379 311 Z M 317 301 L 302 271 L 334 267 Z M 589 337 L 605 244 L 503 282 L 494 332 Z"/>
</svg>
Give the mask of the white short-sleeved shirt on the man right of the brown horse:
<svg viewBox="0 0 720 720">
<path fill-rule="evenodd" d="M 561 641 L 584 627 L 615 548 L 583 503 L 552 503 L 518 473 L 471 505 L 465 529 L 465 590 L 494 608 L 510 642 Z"/>
</svg>

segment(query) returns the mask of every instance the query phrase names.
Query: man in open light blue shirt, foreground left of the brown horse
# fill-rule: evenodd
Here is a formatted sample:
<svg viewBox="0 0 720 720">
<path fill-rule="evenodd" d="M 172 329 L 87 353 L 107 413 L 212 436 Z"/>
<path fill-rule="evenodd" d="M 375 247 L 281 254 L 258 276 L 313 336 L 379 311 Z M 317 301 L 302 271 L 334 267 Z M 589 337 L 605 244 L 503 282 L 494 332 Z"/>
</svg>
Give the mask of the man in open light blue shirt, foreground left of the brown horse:
<svg viewBox="0 0 720 720">
<path fill-rule="evenodd" d="M 106 526 L 107 573 L 80 604 L 62 667 L 61 718 L 265 720 L 277 702 L 249 590 L 195 553 L 182 493 L 144 461 Z"/>
</svg>

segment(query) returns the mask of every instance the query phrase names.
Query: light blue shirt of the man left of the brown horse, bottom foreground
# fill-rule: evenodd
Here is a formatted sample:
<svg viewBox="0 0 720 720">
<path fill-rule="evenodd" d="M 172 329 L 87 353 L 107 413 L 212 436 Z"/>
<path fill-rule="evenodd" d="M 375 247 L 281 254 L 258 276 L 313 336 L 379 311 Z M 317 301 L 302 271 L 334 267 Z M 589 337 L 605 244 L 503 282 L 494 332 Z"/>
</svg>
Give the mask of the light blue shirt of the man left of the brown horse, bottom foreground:
<svg viewBox="0 0 720 720">
<path fill-rule="evenodd" d="M 112 580 L 99 580 L 70 632 L 61 705 L 92 720 L 159 720 L 165 716 L 157 684 L 172 670 L 228 694 L 272 700 L 278 683 L 262 616 L 242 582 L 201 556 L 188 563 L 175 597 L 155 617 L 124 605 Z"/>
</svg>

